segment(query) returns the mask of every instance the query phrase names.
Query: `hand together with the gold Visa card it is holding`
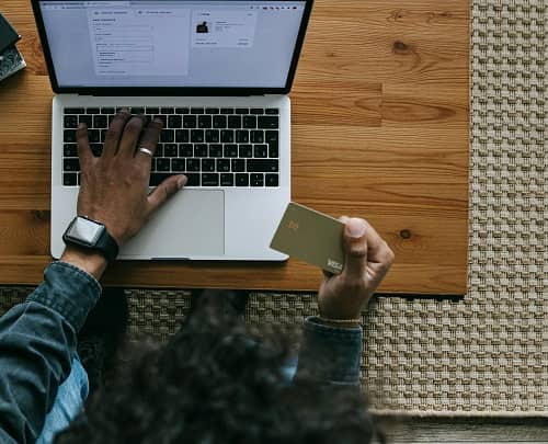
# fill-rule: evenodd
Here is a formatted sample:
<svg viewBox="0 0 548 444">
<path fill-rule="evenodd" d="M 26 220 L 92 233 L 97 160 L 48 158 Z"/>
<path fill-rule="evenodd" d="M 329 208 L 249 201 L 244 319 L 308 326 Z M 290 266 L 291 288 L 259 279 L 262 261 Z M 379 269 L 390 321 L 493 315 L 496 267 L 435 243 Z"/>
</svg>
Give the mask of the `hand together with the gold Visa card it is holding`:
<svg viewBox="0 0 548 444">
<path fill-rule="evenodd" d="M 320 320 L 357 327 L 362 309 L 388 273 L 393 252 L 364 219 L 323 215 L 290 203 L 271 248 L 331 272 L 318 292 Z"/>
</svg>

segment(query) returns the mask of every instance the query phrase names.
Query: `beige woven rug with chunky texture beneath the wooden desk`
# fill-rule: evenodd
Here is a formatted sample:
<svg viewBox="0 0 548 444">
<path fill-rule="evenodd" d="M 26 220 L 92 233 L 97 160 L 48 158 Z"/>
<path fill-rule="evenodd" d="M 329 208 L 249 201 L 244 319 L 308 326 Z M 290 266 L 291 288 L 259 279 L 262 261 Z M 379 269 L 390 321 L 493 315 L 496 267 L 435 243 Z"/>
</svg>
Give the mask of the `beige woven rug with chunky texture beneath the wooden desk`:
<svg viewBox="0 0 548 444">
<path fill-rule="evenodd" d="M 547 9 L 472 0 L 469 293 L 381 297 L 362 376 L 379 411 L 548 415 Z M 0 289 L 1 309 L 31 288 Z M 168 339 L 189 292 L 132 289 L 130 331 Z M 254 294 L 253 322 L 299 325 L 315 295 Z"/>
</svg>

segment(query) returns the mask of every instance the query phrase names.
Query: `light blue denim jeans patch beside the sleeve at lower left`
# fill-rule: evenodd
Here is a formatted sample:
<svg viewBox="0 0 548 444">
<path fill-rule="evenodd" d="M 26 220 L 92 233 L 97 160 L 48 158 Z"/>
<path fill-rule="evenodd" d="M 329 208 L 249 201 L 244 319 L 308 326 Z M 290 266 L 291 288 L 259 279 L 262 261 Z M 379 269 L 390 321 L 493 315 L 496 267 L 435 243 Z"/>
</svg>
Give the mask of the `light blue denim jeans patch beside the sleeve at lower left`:
<svg viewBox="0 0 548 444">
<path fill-rule="evenodd" d="M 72 420 L 82 411 L 83 402 L 90 390 L 88 374 L 82 367 L 78 355 L 72 360 L 69 376 L 59 386 L 54 406 L 46 415 L 44 429 L 36 444 L 50 444 L 55 435 L 67 429 Z"/>
</svg>

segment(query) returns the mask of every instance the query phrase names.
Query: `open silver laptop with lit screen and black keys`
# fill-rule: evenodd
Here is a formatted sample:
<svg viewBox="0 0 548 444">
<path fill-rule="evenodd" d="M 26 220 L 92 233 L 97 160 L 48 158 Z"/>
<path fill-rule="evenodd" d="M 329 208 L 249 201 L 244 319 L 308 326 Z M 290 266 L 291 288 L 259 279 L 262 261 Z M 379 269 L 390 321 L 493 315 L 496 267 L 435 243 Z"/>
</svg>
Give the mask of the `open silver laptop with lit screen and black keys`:
<svg viewBox="0 0 548 444">
<path fill-rule="evenodd" d="M 282 261 L 292 87 L 312 0 L 32 0 L 53 100 L 52 255 L 76 215 L 76 128 L 101 155 L 121 107 L 164 128 L 150 186 L 189 183 L 119 252 L 128 260 Z"/>
</svg>

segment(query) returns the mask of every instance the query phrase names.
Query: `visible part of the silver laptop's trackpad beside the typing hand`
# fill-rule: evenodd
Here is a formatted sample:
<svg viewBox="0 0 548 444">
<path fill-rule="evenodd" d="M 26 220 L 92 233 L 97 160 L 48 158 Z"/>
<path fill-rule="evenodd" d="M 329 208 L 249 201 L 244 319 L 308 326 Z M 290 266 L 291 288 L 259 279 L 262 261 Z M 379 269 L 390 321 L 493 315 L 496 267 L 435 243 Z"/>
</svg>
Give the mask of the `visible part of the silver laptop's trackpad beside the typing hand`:
<svg viewBox="0 0 548 444">
<path fill-rule="evenodd" d="M 224 253 L 225 193 L 182 190 L 123 248 L 121 258 L 199 259 Z"/>
</svg>

